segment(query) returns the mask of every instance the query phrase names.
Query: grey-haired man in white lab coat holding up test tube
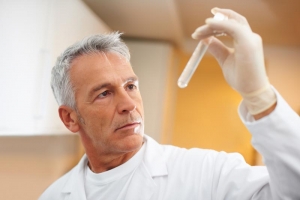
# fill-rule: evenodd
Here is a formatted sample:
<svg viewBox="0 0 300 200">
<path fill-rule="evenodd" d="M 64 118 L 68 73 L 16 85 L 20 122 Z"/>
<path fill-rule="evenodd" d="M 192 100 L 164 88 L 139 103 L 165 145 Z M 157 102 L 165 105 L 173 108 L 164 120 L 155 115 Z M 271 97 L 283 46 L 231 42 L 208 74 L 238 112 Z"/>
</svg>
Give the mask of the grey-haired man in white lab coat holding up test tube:
<svg viewBox="0 0 300 200">
<path fill-rule="evenodd" d="M 300 119 L 270 86 L 262 42 L 238 13 L 214 8 L 193 37 L 226 33 L 234 50 L 212 37 L 227 82 L 243 96 L 239 113 L 267 167 L 239 154 L 159 145 L 144 135 L 138 78 L 120 34 L 92 36 L 69 47 L 52 71 L 65 126 L 86 155 L 52 184 L 44 199 L 300 199 Z"/>
</svg>

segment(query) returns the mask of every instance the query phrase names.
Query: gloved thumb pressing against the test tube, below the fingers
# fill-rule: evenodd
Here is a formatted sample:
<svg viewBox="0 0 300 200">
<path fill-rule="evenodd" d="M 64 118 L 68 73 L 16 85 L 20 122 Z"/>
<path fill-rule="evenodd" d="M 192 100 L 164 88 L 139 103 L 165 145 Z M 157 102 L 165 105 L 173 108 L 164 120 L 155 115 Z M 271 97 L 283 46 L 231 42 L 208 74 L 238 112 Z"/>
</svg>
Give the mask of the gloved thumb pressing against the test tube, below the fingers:
<svg viewBox="0 0 300 200">
<path fill-rule="evenodd" d="M 216 58 L 219 65 L 222 67 L 224 61 L 233 52 L 233 49 L 224 45 L 219 39 L 211 37 L 207 51 Z"/>
</svg>

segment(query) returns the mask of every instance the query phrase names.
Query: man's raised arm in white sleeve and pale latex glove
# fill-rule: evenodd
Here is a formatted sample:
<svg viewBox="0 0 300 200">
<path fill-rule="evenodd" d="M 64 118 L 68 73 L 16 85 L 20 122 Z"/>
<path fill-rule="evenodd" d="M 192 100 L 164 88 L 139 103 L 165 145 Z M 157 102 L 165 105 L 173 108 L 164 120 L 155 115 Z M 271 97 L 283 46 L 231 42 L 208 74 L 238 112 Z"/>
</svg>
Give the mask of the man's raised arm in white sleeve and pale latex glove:
<svg viewBox="0 0 300 200">
<path fill-rule="evenodd" d="M 246 18 L 228 9 L 214 8 L 212 12 L 220 12 L 228 20 L 209 18 L 192 37 L 204 41 L 212 37 L 208 50 L 218 60 L 228 84 L 243 97 L 241 118 L 268 170 L 268 180 L 266 176 L 256 176 L 261 171 L 254 167 L 248 172 L 242 170 L 243 173 L 234 177 L 245 176 L 247 181 L 237 187 L 249 191 L 257 186 L 259 181 L 255 180 L 261 179 L 262 185 L 253 189 L 251 199 L 300 199 L 300 118 L 270 85 L 261 37 L 252 32 Z M 220 33 L 232 37 L 233 48 L 214 37 Z M 238 165 L 234 168 L 232 174 L 241 171 Z M 224 184 L 230 183 L 224 180 Z"/>
</svg>

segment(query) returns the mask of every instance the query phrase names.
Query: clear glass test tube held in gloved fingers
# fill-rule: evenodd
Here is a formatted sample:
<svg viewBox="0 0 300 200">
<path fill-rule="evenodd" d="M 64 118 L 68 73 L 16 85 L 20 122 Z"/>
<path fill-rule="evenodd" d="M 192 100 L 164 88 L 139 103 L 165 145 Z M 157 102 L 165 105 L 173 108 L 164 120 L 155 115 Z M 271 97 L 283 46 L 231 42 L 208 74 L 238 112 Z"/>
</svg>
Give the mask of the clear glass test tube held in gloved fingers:
<svg viewBox="0 0 300 200">
<path fill-rule="evenodd" d="M 227 16 L 225 16 L 221 13 L 216 13 L 214 16 L 214 19 L 225 20 L 225 19 L 227 19 Z M 178 79 L 178 82 L 177 82 L 178 87 L 185 88 L 188 85 L 188 83 L 191 80 L 194 72 L 196 71 L 200 61 L 202 60 L 206 50 L 208 49 L 210 42 L 211 42 L 211 39 L 208 41 L 208 43 L 204 43 L 202 40 L 198 43 L 190 60 L 186 64 L 184 70 L 182 71 L 182 73 Z"/>
</svg>

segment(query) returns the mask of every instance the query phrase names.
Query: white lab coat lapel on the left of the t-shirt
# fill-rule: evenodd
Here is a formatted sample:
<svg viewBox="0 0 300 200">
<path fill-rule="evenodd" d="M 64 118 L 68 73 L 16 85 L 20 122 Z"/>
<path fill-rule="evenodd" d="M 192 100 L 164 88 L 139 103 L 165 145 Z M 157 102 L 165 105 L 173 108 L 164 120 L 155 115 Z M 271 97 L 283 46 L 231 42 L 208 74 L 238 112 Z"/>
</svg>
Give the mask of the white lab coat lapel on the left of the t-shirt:
<svg viewBox="0 0 300 200">
<path fill-rule="evenodd" d="M 87 157 L 84 155 L 62 189 L 64 200 L 86 200 L 84 176 Z"/>
</svg>

